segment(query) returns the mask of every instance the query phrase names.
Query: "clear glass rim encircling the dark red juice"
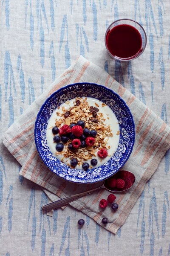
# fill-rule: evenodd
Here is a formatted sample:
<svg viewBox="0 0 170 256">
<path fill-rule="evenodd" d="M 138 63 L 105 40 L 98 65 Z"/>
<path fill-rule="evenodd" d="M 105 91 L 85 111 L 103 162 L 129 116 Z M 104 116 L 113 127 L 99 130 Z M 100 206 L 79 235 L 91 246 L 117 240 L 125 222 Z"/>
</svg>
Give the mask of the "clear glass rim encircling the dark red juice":
<svg viewBox="0 0 170 256">
<path fill-rule="evenodd" d="M 111 26 L 112 26 L 113 24 L 115 24 L 116 22 L 123 21 L 123 20 L 132 21 L 133 23 L 135 23 L 135 24 L 137 24 L 138 26 L 140 26 L 140 28 L 142 29 L 142 31 L 143 31 L 143 33 L 144 33 L 144 39 L 145 39 L 145 43 L 144 43 L 144 46 L 142 47 L 142 51 L 139 52 L 139 54 L 136 54 L 136 55 L 133 55 L 133 56 L 130 56 L 130 57 L 127 57 L 127 58 L 121 58 L 121 57 L 118 57 L 118 56 L 116 56 L 116 55 L 111 54 L 111 52 L 109 51 L 108 46 L 107 46 L 107 44 L 106 44 L 106 36 L 107 36 L 108 31 L 109 31 L 109 29 L 111 28 Z M 138 31 L 139 31 L 139 30 L 138 30 Z M 140 32 L 140 31 L 139 31 L 139 33 L 140 33 L 140 35 L 141 35 L 141 32 Z M 128 18 L 123 18 L 123 19 L 115 20 L 115 21 L 113 21 L 113 22 L 108 26 L 108 28 L 106 29 L 106 32 L 105 32 L 105 47 L 106 47 L 106 49 L 107 49 L 109 55 L 110 55 L 112 58 L 116 59 L 116 60 L 119 60 L 119 61 L 130 61 L 130 60 L 134 60 L 134 59 L 138 58 L 138 57 L 144 52 L 144 49 L 146 48 L 146 45 L 147 45 L 147 35 L 146 35 L 146 32 L 145 32 L 143 26 L 142 26 L 139 22 L 137 22 L 136 20 L 132 20 L 132 19 L 128 19 Z"/>
</svg>

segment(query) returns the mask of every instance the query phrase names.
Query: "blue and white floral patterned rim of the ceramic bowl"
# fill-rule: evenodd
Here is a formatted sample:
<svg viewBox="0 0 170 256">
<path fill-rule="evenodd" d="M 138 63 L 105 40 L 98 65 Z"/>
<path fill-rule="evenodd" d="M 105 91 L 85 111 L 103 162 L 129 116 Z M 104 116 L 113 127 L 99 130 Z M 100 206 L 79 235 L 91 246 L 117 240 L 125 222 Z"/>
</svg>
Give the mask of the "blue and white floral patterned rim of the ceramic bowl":
<svg viewBox="0 0 170 256">
<path fill-rule="evenodd" d="M 120 138 L 115 154 L 102 166 L 88 169 L 88 171 L 72 169 L 60 162 L 51 153 L 46 139 L 48 120 L 53 111 L 62 103 L 76 97 L 92 97 L 104 102 L 112 109 L 119 121 Z M 34 136 L 37 151 L 51 172 L 71 182 L 94 183 L 105 180 L 124 166 L 133 150 L 135 125 L 130 109 L 118 94 L 103 85 L 84 82 L 62 87 L 44 102 L 37 114 Z"/>
</svg>

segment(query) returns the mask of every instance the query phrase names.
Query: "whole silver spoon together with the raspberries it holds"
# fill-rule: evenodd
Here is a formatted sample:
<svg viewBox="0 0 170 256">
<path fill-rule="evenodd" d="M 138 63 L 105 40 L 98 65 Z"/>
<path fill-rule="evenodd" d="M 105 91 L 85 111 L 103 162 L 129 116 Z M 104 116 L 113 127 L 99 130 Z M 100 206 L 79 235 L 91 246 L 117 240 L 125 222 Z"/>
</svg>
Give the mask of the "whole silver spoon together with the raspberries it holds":
<svg viewBox="0 0 170 256">
<path fill-rule="evenodd" d="M 116 186 L 113 186 L 113 183 L 115 183 L 115 181 L 117 179 L 122 179 L 122 180 L 125 181 L 125 186 L 122 189 L 117 188 Z M 42 208 L 43 212 L 48 212 L 51 209 L 57 209 L 59 207 L 65 206 L 66 204 L 69 204 L 69 203 L 77 200 L 78 198 L 81 198 L 85 195 L 89 195 L 89 194 L 91 194 L 92 192 L 94 192 L 98 189 L 107 189 L 108 191 L 113 192 L 113 193 L 125 192 L 128 189 L 130 189 L 133 186 L 134 183 L 135 183 L 135 175 L 132 172 L 125 171 L 125 170 L 120 170 L 115 175 L 106 179 L 102 183 L 102 185 L 100 185 L 100 186 L 98 186 L 94 189 L 90 189 L 88 191 L 81 192 L 81 193 L 75 194 L 75 195 L 71 195 L 71 196 L 59 199 L 59 200 L 54 201 L 54 202 L 49 203 L 49 204 L 45 204 L 41 208 Z"/>
</svg>

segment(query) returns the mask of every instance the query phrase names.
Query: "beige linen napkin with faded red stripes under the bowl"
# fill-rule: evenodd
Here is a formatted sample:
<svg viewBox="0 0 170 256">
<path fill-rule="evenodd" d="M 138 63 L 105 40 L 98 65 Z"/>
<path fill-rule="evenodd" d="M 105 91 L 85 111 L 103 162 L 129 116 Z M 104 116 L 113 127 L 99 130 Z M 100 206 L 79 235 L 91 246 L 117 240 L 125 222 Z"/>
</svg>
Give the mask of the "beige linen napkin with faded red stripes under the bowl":
<svg viewBox="0 0 170 256">
<path fill-rule="evenodd" d="M 22 166 L 20 175 L 42 186 L 51 201 L 91 189 L 94 185 L 67 182 L 48 170 L 40 159 L 34 143 L 34 123 L 45 99 L 60 87 L 83 81 L 105 85 L 118 93 L 129 106 L 136 125 L 133 152 L 123 167 L 134 173 L 136 182 L 127 192 L 116 194 L 116 202 L 119 204 L 117 211 L 111 211 L 110 207 L 106 207 L 105 210 L 99 208 L 99 201 L 110 194 L 105 189 L 70 203 L 72 207 L 84 212 L 105 229 L 116 233 L 125 223 L 145 184 L 170 148 L 170 127 L 108 73 L 80 56 L 8 128 L 3 136 L 3 143 Z M 109 223 L 104 225 L 102 218 L 106 216 Z"/>
</svg>

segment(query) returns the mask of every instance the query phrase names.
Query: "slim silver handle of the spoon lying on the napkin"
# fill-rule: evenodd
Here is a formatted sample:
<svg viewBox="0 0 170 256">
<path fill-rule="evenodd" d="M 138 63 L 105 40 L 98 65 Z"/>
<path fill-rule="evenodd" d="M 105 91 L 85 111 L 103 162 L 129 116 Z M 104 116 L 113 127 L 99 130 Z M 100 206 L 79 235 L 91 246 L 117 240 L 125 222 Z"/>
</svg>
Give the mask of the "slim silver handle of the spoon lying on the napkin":
<svg viewBox="0 0 170 256">
<path fill-rule="evenodd" d="M 91 189 L 91 190 L 88 190 L 88 191 L 85 191 L 85 192 L 81 192 L 79 194 L 76 194 L 76 195 L 71 195 L 71 196 L 68 196 L 66 198 L 62 198 L 62 199 L 59 199 L 57 201 L 54 201 L 52 203 L 49 203 L 49 204 L 45 204 L 43 205 L 41 208 L 42 208 L 42 211 L 43 212 L 47 212 L 47 211 L 50 211 L 51 209 L 56 209 L 56 208 L 59 208 L 59 207 L 62 207 L 68 203 L 71 203 L 72 201 L 74 200 L 77 200 L 78 198 L 81 198 L 82 196 L 84 195 L 88 195 L 94 191 L 96 191 L 97 189 L 102 189 L 104 188 L 103 186 L 99 186 L 95 189 Z"/>
</svg>

